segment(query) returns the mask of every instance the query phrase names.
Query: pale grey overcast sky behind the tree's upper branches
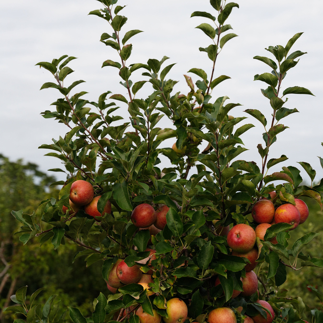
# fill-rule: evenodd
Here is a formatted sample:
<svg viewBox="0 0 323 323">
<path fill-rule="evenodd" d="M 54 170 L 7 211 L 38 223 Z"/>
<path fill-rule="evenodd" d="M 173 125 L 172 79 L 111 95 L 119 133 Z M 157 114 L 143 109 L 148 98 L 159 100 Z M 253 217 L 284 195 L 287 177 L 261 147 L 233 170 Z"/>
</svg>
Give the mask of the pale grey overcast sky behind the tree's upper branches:
<svg viewBox="0 0 323 323">
<path fill-rule="evenodd" d="M 252 57 L 268 56 L 270 53 L 265 47 L 285 46 L 295 33 L 304 32 L 293 50 L 308 54 L 288 73 L 283 88 L 304 86 L 316 96 L 289 96 L 286 107 L 297 108 L 300 113 L 282 120 L 290 129 L 278 136 L 269 158 L 282 154 L 289 158 L 276 170 L 282 165 L 301 167 L 297 161 L 309 162 L 319 180 L 323 177 L 317 157 L 323 157 L 323 1 L 243 0 L 238 3 L 240 8 L 233 9 L 227 23 L 239 37 L 225 45 L 216 68 L 216 76 L 225 74 L 232 79 L 217 86 L 213 97 L 228 95 L 231 102 L 241 103 L 242 107 L 232 110 L 234 116 L 248 116 L 243 110 L 259 109 L 269 120 L 272 109 L 260 92 L 265 84 L 253 81 L 253 76 L 271 71 Z M 198 50 L 198 47 L 208 46 L 210 39 L 195 27 L 211 20 L 190 18 L 193 11 L 216 15 L 208 0 L 119 0 L 118 4 L 128 4 L 120 12 L 128 17 L 122 32 L 144 31 L 132 38 L 133 54 L 129 64 L 168 56 L 167 65 L 177 63 L 168 77 L 180 81 L 175 90 L 184 93 L 188 92 L 188 87 L 183 74 L 188 70 L 202 68 L 210 75 L 212 62 Z M 111 32 L 108 24 L 87 15 L 101 7 L 100 2 L 94 0 L 0 1 L 0 153 L 12 161 L 23 158 L 39 164 L 42 170 L 60 167 L 59 160 L 43 156 L 49 151 L 37 149 L 41 144 L 50 144 L 52 138 L 63 137 L 67 129 L 40 115 L 44 110 L 53 109 L 50 103 L 60 97 L 60 93 L 55 89 L 39 91 L 44 82 L 54 80 L 49 72 L 35 67 L 36 63 L 52 61 L 64 54 L 78 57 L 69 65 L 76 72 L 66 81 L 86 81 L 77 87 L 78 91 L 89 92 L 85 98 L 97 100 L 106 90 L 126 95 L 125 88 L 119 84 L 117 70 L 101 69 L 104 60 L 116 60 L 114 51 L 99 42 L 103 32 Z M 198 80 L 191 76 L 194 82 Z M 145 77 L 139 70 L 133 81 L 141 80 Z M 146 83 L 139 94 L 145 97 L 150 89 Z M 249 151 L 241 158 L 260 162 L 256 145 L 262 143 L 263 128 L 252 117 L 247 122 L 257 127 L 242 135 Z M 62 175 L 55 175 L 63 179 Z M 308 180 L 306 174 L 302 175 Z"/>
</svg>

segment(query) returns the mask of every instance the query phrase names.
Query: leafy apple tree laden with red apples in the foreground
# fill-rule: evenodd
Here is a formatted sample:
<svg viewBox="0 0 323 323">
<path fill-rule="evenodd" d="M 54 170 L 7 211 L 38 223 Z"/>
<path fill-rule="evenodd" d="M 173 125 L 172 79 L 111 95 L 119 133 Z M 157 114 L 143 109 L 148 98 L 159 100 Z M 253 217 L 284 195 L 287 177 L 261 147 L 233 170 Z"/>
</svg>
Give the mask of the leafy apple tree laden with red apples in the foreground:
<svg viewBox="0 0 323 323">
<path fill-rule="evenodd" d="M 269 46 L 269 57 L 254 57 L 265 64 L 265 72 L 254 80 L 264 85 L 261 92 L 268 109 L 246 109 L 244 116 L 233 117 L 232 110 L 240 104 L 212 93 L 229 79 L 216 75 L 215 67 L 226 43 L 237 36 L 228 24 L 237 3 L 210 0 L 210 12 L 192 13 L 205 18 L 197 28 L 210 38 L 210 45 L 199 50 L 210 69 L 190 68 L 184 75 L 187 91 L 180 93 L 173 90 L 177 81 L 168 78 L 174 64 L 167 65 L 167 57 L 129 63 L 130 41 L 141 30 L 126 30 L 125 3 L 99 2 L 101 8 L 90 14 L 107 22 L 109 32 L 100 41 L 119 58 L 107 59 L 102 67 L 118 73 L 124 88 L 89 101 L 86 92 L 76 91 L 82 80 L 68 83 L 75 57 L 37 64 L 52 74 L 41 89 L 60 93 L 51 104 L 53 111 L 42 115 L 67 126 L 64 136 L 40 148 L 64 164 L 68 178 L 58 183 L 63 184 L 58 200 L 42 201 L 32 215 L 12 212 L 22 223 L 23 243 L 51 240 L 57 249 L 70 240 L 83 247 L 75 258 L 84 257 L 86 266 L 102 267 L 110 293 L 98 295 L 90 318 L 69 307 L 71 320 L 322 322 L 321 311 L 310 312 L 299 295 L 287 297 L 288 291 L 280 286 L 287 279 L 286 267 L 323 267 L 322 259 L 302 252 L 318 233 L 309 232 L 289 244 L 290 230 L 297 230 L 309 216 L 300 197 L 311 197 L 322 208 L 323 185 L 313 184 L 316 171 L 304 161 L 299 164 L 309 175 L 310 186 L 304 185 L 295 165 L 272 172 L 270 168 L 287 157 L 269 155 L 277 136 L 288 128 L 285 118 L 298 112 L 288 107 L 287 99 L 293 100 L 293 94 L 313 95 L 298 85 L 284 87 L 288 71 L 306 54 L 292 50 L 302 33 L 285 46 Z M 146 98 L 140 98 L 143 86 L 151 88 Z M 127 107 L 127 117 L 118 114 L 120 107 Z M 254 127 L 252 121 L 244 121 L 246 115 L 264 127 L 257 146 L 259 165 L 242 159 L 242 136 Z M 163 128 L 164 119 L 171 128 Z M 173 146 L 164 147 L 169 138 L 174 138 Z M 167 164 L 162 162 L 165 158 Z M 322 301 L 320 292 L 310 288 Z M 26 289 L 16 292 L 12 299 L 18 305 L 6 311 L 20 313 L 27 322 L 68 320 L 57 315 L 53 299 L 43 307 L 37 304 L 37 291 L 26 302 Z"/>
</svg>

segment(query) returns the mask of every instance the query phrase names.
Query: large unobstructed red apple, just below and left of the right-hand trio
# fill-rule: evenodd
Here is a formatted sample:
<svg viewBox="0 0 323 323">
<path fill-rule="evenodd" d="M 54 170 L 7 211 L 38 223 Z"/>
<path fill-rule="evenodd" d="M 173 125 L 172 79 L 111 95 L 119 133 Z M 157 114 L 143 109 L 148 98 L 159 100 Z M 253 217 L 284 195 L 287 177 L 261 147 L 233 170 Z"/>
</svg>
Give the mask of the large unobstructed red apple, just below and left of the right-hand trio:
<svg viewBox="0 0 323 323">
<path fill-rule="evenodd" d="M 256 233 L 246 224 L 237 224 L 229 231 L 227 242 L 233 251 L 248 252 L 256 242 Z"/>
</svg>

